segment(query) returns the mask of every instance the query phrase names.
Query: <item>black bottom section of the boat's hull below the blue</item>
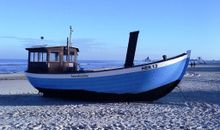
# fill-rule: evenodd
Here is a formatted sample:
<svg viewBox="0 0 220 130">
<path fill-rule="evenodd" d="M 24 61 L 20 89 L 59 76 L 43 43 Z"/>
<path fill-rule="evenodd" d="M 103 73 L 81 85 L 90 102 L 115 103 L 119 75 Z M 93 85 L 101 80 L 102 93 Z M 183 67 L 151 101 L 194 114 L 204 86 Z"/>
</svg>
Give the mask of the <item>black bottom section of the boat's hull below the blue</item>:
<svg viewBox="0 0 220 130">
<path fill-rule="evenodd" d="M 154 101 L 170 93 L 180 81 L 174 81 L 159 88 L 138 94 L 99 93 L 85 90 L 56 90 L 38 88 L 44 96 L 73 98 L 86 101 Z"/>
</svg>

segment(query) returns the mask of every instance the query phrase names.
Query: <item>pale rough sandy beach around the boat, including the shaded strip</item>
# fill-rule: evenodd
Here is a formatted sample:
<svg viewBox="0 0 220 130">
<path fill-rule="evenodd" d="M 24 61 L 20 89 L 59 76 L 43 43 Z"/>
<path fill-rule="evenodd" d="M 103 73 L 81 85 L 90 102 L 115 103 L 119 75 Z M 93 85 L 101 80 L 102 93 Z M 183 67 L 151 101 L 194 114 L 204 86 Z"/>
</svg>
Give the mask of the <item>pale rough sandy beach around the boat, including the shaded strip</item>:
<svg viewBox="0 0 220 130">
<path fill-rule="evenodd" d="M 155 102 L 43 97 L 24 74 L 1 74 L 0 129 L 220 129 L 220 66 L 190 68 Z"/>
</svg>

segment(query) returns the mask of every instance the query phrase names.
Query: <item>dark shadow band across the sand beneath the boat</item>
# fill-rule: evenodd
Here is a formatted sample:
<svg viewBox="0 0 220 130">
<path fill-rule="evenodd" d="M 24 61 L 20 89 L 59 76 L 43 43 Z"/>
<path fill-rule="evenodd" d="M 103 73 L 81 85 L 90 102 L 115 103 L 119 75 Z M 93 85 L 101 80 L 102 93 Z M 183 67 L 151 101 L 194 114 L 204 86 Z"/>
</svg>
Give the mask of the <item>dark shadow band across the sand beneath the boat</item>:
<svg viewBox="0 0 220 130">
<path fill-rule="evenodd" d="M 135 101 L 135 103 L 148 103 L 158 105 L 185 106 L 189 102 L 211 103 L 220 105 L 218 97 L 220 92 L 216 91 L 174 91 L 167 96 L 153 102 Z M 0 95 L 0 106 L 50 106 L 50 105 L 89 105 L 107 103 L 133 103 L 134 101 L 117 100 L 80 100 L 74 98 L 45 97 L 42 94 L 16 94 Z"/>
</svg>

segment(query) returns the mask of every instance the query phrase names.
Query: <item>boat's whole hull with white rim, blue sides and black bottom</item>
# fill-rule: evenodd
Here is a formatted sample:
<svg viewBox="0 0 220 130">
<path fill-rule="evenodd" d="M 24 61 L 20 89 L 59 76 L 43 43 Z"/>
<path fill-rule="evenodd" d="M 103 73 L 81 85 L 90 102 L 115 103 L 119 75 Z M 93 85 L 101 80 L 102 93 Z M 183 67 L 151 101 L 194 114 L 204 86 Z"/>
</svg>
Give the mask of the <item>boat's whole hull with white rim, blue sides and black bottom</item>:
<svg viewBox="0 0 220 130">
<path fill-rule="evenodd" d="M 156 100 L 177 86 L 184 76 L 188 62 L 189 54 L 186 53 L 167 61 L 128 69 L 69 74 L 69 77 L 65 78 L 59 74 L 30 73 L 27 73 L 27 77 L 36 89 L 45 94 L 78 95 L 80 98 Z"/>
</svg>

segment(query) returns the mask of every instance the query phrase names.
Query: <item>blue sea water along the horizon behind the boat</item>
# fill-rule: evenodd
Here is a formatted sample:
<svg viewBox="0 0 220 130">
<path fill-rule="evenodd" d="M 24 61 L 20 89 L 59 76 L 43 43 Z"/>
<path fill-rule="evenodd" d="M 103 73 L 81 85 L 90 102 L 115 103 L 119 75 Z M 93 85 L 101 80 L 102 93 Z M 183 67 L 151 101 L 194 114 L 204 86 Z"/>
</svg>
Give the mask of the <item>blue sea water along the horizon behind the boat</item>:
<svg viewBox="0 0 220 130">
<path fill-rule="evenodd" d="M 134 64 L 147 63 L 135 60 Z M 202 69 L 203 66 L 211 65 L 210 69 L 220 72 L 220 61 L 207 61 L 204 65 L 197 65 L 196 69 Z M 120 68 L 124 66 L 122 60 L 79 60 L 79 69 L 109 69 Z M 195 68 L 193 68 L 194 70 Z M 20 73 L 27 70 L 27 59 L 0 59 L 0 74 Z M 190 68 L 189 68 L 190 70 Z"/>
</svg>

